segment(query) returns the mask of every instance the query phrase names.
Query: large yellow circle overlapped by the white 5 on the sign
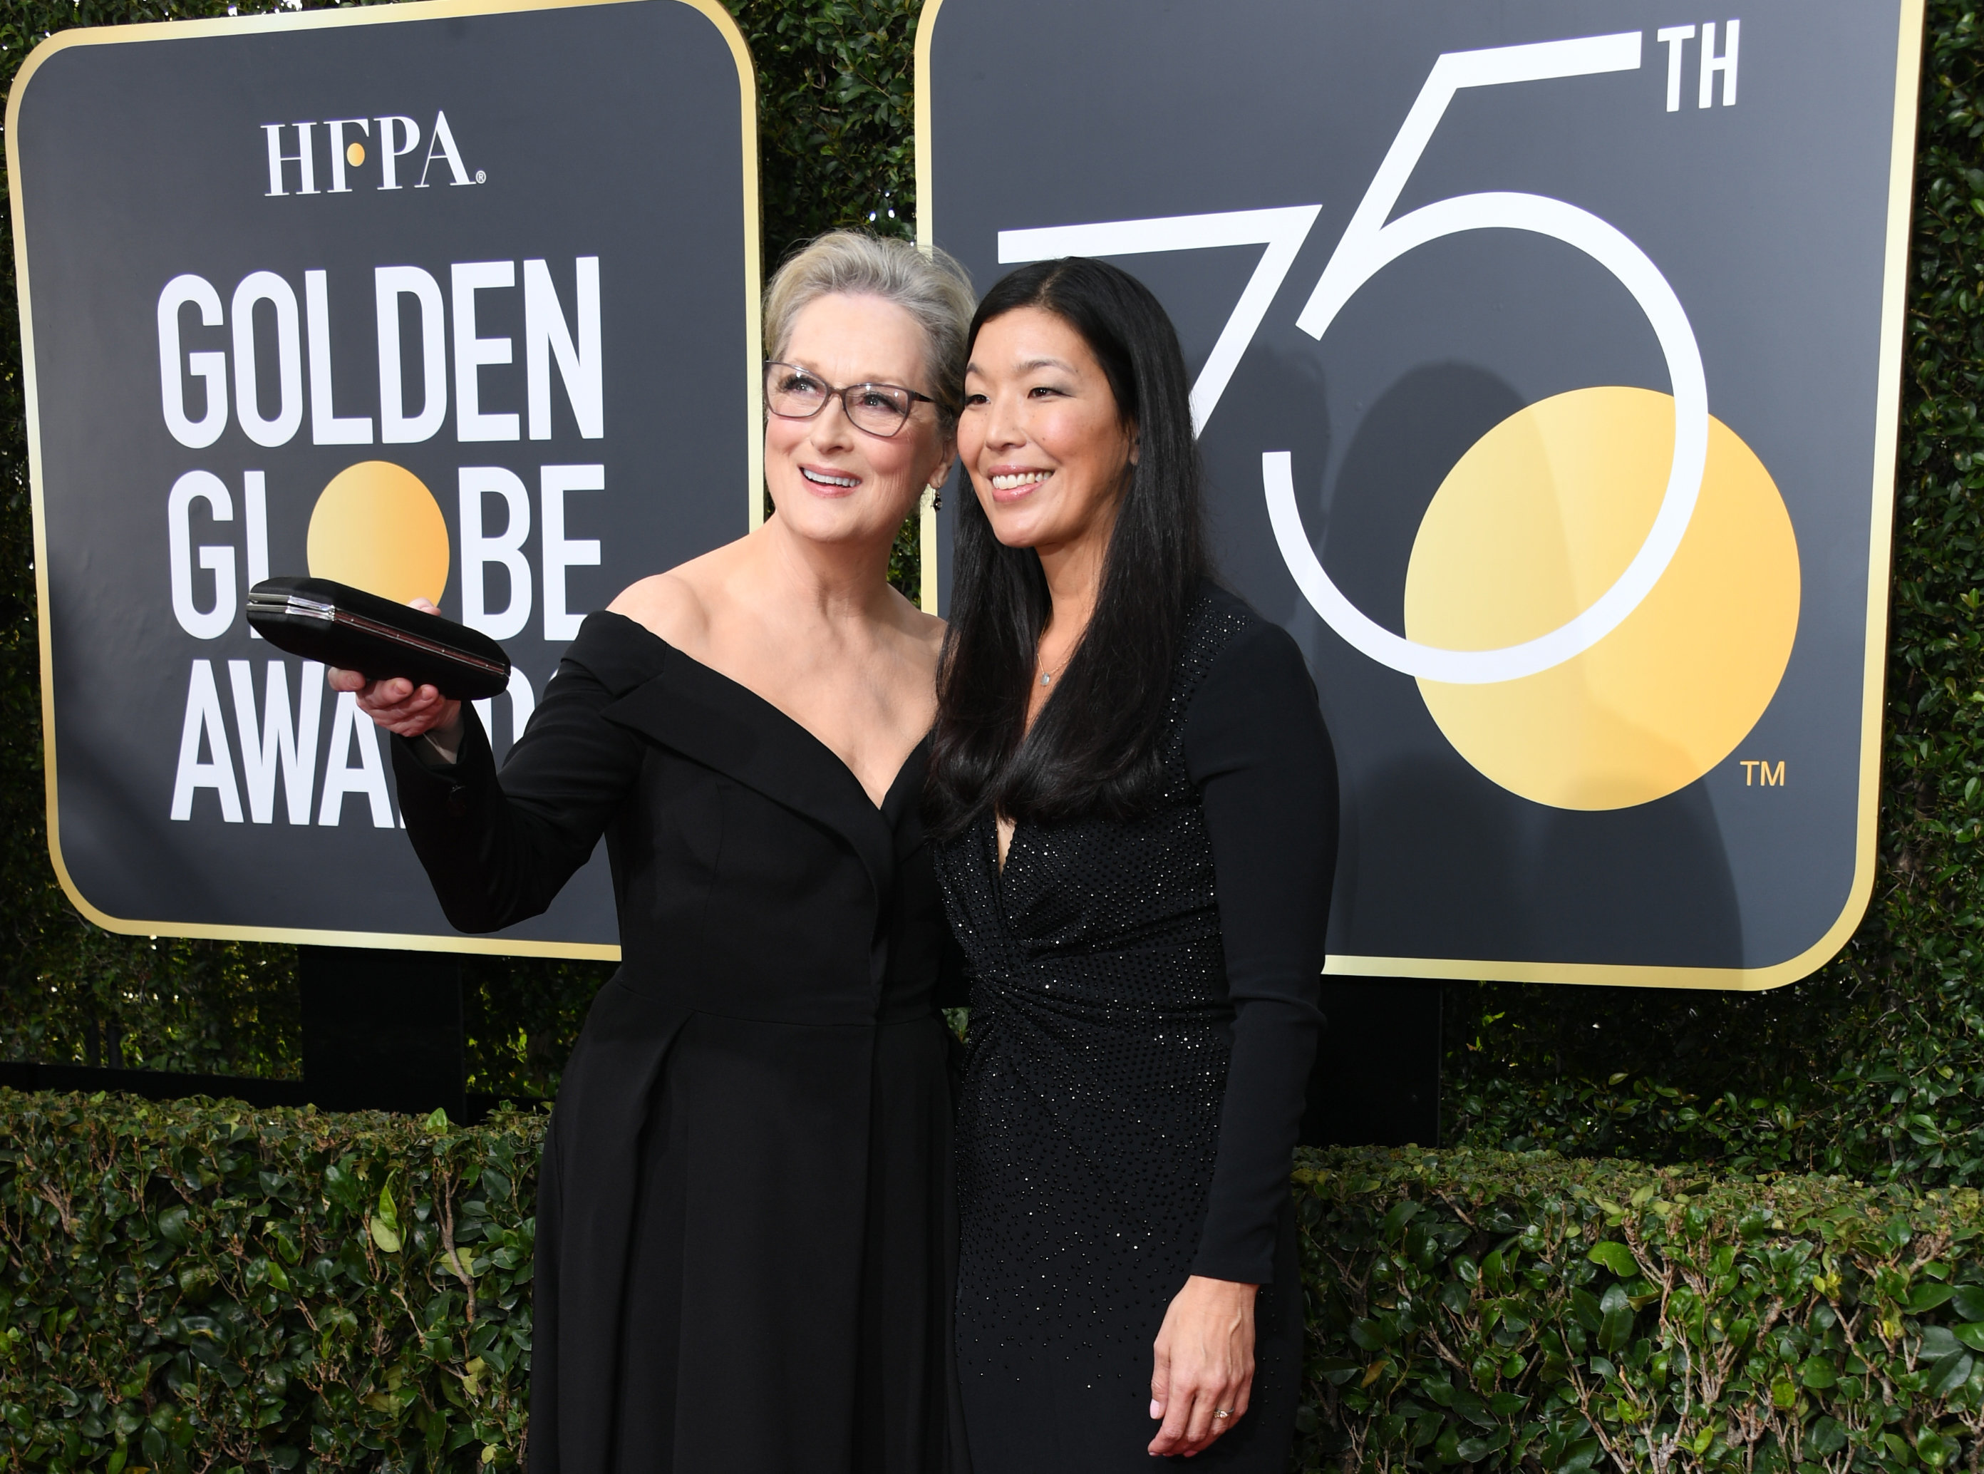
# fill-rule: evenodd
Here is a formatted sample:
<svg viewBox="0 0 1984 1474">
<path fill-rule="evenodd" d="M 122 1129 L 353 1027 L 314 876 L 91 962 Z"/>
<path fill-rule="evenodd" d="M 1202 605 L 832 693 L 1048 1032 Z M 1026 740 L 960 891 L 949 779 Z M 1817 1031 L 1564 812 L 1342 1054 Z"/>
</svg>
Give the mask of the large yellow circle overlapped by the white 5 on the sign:
<svg viewBox="0 0 1984 1474">
<path fill-rule="evenodd" d="M 1516 411 L 1440 482 L 1413 542 L 1405 633 L 1488 651 L 1593 603 L 1653 526 L 1674 401 L 1577 389 Z M 1764 462 L 1708 421 L 1708 466 L 1674 561 L 1619 629 L 1500 684 L 1421 680 L 1440 732 L 1502 788 L 1559 809 L 1623 809 L 1736 750 L 1798 635 L 1798 540 Z"/>
</svg>

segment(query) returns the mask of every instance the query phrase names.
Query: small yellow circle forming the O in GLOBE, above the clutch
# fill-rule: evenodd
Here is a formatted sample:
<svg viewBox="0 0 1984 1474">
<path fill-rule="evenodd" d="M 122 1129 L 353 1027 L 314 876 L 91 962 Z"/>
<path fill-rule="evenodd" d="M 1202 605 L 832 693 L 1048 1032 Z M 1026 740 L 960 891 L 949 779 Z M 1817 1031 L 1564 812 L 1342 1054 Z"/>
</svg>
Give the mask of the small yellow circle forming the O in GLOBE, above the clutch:
<svg viewBox="0 0 1984 1474">
<path fill-rule="evenodd" d="M 331 476 L 310 514 L 310 573 L 383 599 L 433 599 L 448 587 L 448 524 L 419 476 L 361 460 Z"/>
</svg>

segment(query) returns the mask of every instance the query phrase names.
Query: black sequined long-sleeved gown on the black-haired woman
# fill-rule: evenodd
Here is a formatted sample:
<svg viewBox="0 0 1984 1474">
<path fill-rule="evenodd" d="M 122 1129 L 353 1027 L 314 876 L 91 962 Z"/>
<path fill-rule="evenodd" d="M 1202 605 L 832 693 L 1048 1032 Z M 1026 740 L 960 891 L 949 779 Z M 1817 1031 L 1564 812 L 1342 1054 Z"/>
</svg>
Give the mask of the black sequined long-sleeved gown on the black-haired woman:
<svg viewBox="0 0 1984 1474">
<path fill-rule="evenodd" d="M 938 849 L 972 972 L 958 1371 L 974 1474 L 1147 1470 L 1151 1343 L 1186 1276 L 1262 1284 L 1250 1413 L 1202 1470 L 1288 1466 L 1288 1170 L 1321 1024 L 1337 784 L 1296 643 L 1206 587 L 1169 784 L 1137 821 L 992 819 Z"/>
</svg>

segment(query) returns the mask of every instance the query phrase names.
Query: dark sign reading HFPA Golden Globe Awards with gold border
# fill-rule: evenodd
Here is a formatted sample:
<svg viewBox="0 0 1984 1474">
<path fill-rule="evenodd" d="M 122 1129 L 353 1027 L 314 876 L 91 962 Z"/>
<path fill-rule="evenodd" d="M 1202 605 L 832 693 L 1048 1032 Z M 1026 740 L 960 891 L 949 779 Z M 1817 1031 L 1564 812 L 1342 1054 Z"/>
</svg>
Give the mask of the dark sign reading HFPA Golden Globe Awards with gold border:
<svg viewBox="0 0 1984 1474">
<path fill-rule="evenodd" d="M 750 524 L 750 60 L 712 0 L 63 32 L 6 119 L 48 833 L 115 930 L 617 954 L 605 857 L 452 932 L 387 752 L 242 619 L 315 573 L 516 663 Z"/>
</svg>

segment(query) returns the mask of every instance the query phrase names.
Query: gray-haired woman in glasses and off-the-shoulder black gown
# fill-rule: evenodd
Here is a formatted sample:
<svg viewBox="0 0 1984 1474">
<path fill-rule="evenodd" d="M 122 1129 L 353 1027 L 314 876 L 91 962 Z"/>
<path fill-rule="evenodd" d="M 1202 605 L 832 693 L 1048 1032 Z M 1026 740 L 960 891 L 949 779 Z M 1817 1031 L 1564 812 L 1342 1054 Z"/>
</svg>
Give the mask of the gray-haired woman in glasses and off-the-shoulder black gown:
<svg viewBox="0 0 1984 1474">
<path fill-rule="evenodd" d="M 500 776 L 468 706 L 331 673 L 395 734 L 456 926 L 542 913 L 601 835 L 613 863 L 623 964 L 538 1180 L 534 1474 L 962 1468 L 919 819 L 942 623 L 887 571 L 950 472 L 970 313 L 903 242 L 788 260 L 776 514 L 587 617 Z"/>
</svg>

